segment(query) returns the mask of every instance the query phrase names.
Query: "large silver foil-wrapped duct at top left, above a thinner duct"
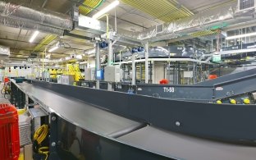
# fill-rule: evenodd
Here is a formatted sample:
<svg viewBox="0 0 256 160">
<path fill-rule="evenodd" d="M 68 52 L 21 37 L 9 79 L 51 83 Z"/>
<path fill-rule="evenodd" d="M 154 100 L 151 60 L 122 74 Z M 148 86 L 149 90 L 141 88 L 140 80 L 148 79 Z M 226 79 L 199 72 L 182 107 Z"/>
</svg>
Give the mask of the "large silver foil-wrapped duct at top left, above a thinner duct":
<svg viewBox="0 0 256 160">
<path fill-rule="evenodd" d="M 72 30 L 73 27 L 71 16 L 40 7 L 25 7 L 10 2 L 0 2 L 0 15 L 16 20 L 34 21 L 35 24 L 48 25 L 62 30 Z"/>
</svg>

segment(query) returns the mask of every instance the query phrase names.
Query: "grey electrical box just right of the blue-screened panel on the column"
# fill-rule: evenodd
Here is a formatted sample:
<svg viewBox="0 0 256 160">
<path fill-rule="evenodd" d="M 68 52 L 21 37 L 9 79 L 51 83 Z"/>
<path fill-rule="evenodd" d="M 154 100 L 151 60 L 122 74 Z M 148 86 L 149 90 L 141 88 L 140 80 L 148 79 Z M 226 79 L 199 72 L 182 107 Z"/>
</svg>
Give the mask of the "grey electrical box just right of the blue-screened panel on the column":
<svg viewBox="0 0 256 160">
<path fill-rule="evenodd" d="M 106 66 L 104 68 L 104 78 L 107 82 L 120 82 L 120 66 Z"/>
</svg>

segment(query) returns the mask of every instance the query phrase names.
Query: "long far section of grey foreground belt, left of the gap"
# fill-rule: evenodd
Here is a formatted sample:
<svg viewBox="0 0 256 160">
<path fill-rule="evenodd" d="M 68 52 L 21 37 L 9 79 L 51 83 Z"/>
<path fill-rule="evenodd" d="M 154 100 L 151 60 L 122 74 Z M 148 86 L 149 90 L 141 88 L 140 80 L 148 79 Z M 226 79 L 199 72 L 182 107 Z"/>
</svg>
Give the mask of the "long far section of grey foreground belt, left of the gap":
<svg viewBox="0 0 256 160">
<path fill-rule="evenodd" d="M 93 107 L 78 100 L 63 97 L 62 95 L 39 88 L 27 83 L 16 84 L 20 89 L 39 99 L 43 105 L 50 107 L 58 115 L 86 130 L 93 131 L 98 135 L 115 135 L 125 130 L 134 130 L 141 123 L 131 121 L 110 112 Z"/>
</svg>

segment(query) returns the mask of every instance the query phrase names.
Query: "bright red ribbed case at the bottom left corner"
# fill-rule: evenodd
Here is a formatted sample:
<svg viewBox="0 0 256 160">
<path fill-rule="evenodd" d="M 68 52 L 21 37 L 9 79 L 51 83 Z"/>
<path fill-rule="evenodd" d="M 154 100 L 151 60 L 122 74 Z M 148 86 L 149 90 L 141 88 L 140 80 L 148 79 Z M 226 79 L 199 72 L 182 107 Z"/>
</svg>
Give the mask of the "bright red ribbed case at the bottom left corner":
<svg viewBox="0 0 256 160">
<path fill-rule="evenodd" d="M 20 135 L 16 107 L 0 104 L 0 159 L 17 160 L 19 155 Z"/>
</svg>

